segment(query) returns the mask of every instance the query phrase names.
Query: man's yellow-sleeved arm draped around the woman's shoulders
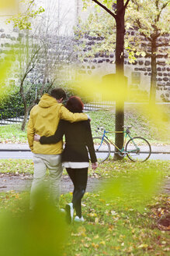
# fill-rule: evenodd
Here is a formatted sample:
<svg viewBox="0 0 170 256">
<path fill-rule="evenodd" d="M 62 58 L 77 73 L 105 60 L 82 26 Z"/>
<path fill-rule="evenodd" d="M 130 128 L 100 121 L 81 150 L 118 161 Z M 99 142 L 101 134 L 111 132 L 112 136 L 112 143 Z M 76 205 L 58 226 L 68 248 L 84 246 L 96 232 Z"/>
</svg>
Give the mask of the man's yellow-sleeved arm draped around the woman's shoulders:
<svg viewBox="0 0 170 256">
<path fill-rule="evenodd" d="M 71 123 L 85 121 L 88 119 L 88 116 L 85 113 L 72 113 L 65 108 L 64 105 L 61 105 L 59 112 L 61 119 L 67 120 Z"/>
</svg>

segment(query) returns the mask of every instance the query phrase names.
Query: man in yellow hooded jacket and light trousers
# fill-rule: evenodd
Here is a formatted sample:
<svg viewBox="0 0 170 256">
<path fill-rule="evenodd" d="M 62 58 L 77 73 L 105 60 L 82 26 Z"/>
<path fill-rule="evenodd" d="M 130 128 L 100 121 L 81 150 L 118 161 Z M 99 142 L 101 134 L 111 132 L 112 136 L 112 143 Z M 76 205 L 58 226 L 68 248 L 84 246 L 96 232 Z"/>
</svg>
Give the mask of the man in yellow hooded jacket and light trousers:
<svg viewBox="0 0 170 256">
<path fill-rule="evenodd" d="M 87 120 L 85 113 L 72 113 L 62 105 L 66 98 L 65 92 L 61 88 L 54 89 L 50 94 L 43 94 L 38 105 L 34 106 L 30 112 L 27 128 L 29 148 L 33 152 L 34 174 L 30 194 L 30 208 L 33 209 L 35 193 L 43 184 L 47 169 L 50 172 L 50 199 L 54 204 L 58 204 L 60 194 L 60 182 L 62 175 L 61 153 L 63 141 L 56 144 L 40 144 L 33 140 L 34 134 L 40 136 L 50 136 L 57 130 L 60 119 L 70 122 Z"/>
</svg>

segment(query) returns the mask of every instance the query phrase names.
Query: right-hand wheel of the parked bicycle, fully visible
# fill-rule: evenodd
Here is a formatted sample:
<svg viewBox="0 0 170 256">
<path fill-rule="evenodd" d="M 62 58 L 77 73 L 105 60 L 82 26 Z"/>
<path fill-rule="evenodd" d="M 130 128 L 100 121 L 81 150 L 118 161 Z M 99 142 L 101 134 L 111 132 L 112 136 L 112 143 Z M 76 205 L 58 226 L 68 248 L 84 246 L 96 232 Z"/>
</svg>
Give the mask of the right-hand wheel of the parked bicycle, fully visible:
<svg viewBox="0 0 170 256">
<path fill-rule="evenodd" d="M 134 162 L 144 162 L 151 155 L 151 145 L 142 137 L 134 137 L 127 141 L 127 157 Z"/>
</svg>

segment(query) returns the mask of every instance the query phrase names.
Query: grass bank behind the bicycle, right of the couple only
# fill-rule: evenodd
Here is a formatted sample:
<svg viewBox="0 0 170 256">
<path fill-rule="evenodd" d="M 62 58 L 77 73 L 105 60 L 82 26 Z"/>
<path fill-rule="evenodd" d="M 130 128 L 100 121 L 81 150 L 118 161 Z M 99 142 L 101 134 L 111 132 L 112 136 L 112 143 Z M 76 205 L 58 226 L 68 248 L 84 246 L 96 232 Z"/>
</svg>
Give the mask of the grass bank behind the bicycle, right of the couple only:
<svg viewBox="0 0 170 256">
<path fill-rule="evenodd" d="M 92 118 L 91 126 L 93 136 L 97 127 L 103 126 L 106 130 L 114 131 L 115 127 L 115 112 L 114 111 L 98 111 L 89 112 Z M 161 123 L 162 121 L 162 123 Z M 125 111 L 124 125 L 133 126 L 130 129 L 132 137 L 140 136 L 149 140 L 151 144 L 170 144 L 169 124 L 168 120 L 160 120 L 161 127 L 156 127 L 155 124 L 144 116 L 141 111 L 136 111 L 133 108 L 127 108 Z M 109 134 L 109 138 L 114 141 L 115 133 Z"/>
</svg>

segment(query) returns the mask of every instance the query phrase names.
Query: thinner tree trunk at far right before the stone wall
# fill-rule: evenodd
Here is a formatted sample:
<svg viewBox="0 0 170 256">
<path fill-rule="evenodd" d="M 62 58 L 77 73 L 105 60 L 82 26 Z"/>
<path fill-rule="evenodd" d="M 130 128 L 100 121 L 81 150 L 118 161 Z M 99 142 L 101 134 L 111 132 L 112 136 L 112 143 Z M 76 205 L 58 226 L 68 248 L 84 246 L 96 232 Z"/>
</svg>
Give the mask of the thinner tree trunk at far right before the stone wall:
<svg viewBox="0 0 170 256">
<path fill-rule="evenodd" d="M 156 41 L 151 41 L 151 88 L 150 88 L 150 103 L 155 104 L 156 100 L 156 85 L 157 85 L 157 60 L 156 60 Z"/>
</svg>

